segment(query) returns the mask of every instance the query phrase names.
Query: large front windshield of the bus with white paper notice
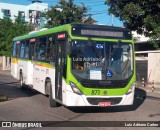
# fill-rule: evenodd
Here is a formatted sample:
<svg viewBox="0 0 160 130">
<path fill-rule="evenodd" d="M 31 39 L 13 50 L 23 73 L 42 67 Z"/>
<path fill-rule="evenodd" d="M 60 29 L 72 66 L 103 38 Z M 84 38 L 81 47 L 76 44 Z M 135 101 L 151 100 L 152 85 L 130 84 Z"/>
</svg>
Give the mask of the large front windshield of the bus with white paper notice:
<svg viewBox="0 0 160 130">
<path fill-rule="evenodd" d="M 131 43 L 74 40 L 72 72 L 87 80 L 125 80 L 133 75 Z"/>
</svg>

